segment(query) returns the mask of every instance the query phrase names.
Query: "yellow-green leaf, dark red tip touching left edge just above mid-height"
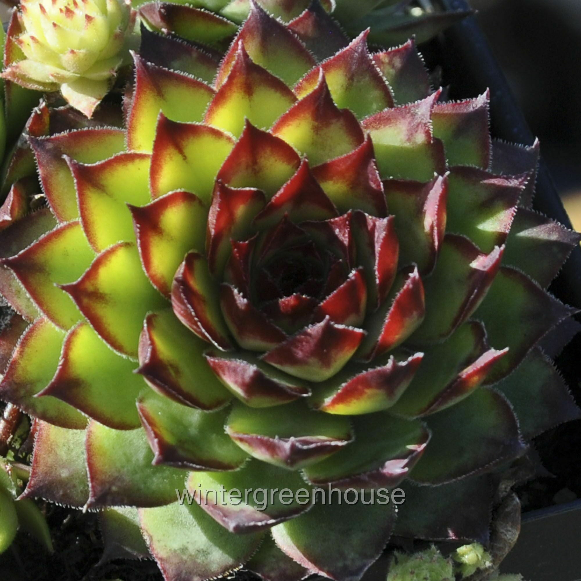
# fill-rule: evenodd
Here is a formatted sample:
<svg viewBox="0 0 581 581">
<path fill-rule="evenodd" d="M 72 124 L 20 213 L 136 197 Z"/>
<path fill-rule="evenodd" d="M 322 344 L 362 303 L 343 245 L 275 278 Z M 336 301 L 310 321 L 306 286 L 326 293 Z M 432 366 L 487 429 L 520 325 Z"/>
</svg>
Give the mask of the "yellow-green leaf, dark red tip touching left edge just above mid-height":
<svg viewBox="0 0 581 581">
<path fill-rule="evenodd" d="M 55 325 L 72 327 L 81 314 L 66 293 L 55 286 L 78 278 L 94 259 L 79 221 L 48 232 L 16 256 L 3 259 L 31 299 Z"/>
</svg>

